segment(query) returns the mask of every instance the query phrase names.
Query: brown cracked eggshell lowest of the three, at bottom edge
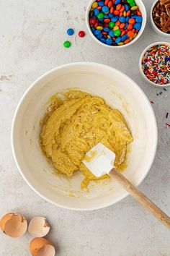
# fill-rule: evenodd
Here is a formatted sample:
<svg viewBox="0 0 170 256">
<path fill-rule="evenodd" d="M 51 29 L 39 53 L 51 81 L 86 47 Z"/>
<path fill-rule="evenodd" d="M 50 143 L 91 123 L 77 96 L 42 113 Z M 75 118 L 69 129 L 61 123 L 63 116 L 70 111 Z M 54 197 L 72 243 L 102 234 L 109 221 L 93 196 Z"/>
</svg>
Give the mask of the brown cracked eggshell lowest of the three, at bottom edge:
<svg viewBox="0 0 170 256">
<path fill-rule="evenodd" d="M 55 256 L 53 243 L 43 237 L 36 237 L 30 242 L 32 256 Z"/>
</svg>

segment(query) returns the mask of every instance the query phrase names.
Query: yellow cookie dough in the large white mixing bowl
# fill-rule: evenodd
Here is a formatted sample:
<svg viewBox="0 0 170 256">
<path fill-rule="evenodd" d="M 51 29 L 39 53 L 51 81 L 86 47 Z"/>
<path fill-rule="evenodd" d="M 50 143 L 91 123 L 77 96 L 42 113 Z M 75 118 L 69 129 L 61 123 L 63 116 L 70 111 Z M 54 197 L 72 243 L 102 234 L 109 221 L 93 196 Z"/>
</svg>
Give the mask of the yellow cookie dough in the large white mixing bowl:
<svg viewBox="0 0 170 256">
<path fill-rule="evenodd" d="M 125 168 L 127 147 L 133 137 L 120 111 L 110 108 L 102 98 L 70 90 L 64 100 L 52 98 L 52 103 L 42 120 L 40 145 L 51 159 L 56 171 L 72 176 L 81 171 L 85 179 L 81 188 L 89 181 L 105 179 L 94 176 L 82 163 L 84 156 L 98 142 L 115 152 L 115 166 Z"/>
</svg>

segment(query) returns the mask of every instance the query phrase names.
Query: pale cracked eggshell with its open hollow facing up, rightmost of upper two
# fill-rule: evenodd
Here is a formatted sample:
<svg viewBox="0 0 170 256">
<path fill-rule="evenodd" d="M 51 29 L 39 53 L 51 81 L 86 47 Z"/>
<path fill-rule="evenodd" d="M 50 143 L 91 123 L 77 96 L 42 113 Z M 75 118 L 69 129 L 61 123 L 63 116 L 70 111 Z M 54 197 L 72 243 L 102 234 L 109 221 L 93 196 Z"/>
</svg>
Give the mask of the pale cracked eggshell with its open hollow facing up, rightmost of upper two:
<svg viewBox="0 0 170 256">
<path fill-rule="evenodd" d="M 29 223 L 28 231 L 32 236 L 46 236 L 50 231 L 50 226 L 44 217 L 34 217 Z"/>
</svg>

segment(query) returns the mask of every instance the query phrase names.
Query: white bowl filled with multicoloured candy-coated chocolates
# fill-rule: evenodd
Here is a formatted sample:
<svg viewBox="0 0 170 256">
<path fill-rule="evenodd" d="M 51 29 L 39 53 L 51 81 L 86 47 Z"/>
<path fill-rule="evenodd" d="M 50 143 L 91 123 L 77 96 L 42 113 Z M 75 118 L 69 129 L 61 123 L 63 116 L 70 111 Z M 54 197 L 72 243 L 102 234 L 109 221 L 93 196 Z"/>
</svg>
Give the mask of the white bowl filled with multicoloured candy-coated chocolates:
<svg viewBox="0 0 170 256">
<path fill-rule="evenodd" d="M 130 46 L 146 26 L 146 8 L 141 0 L 91 0 L 86 10 L 86 26 L 102 46 Z"/>
</svg>

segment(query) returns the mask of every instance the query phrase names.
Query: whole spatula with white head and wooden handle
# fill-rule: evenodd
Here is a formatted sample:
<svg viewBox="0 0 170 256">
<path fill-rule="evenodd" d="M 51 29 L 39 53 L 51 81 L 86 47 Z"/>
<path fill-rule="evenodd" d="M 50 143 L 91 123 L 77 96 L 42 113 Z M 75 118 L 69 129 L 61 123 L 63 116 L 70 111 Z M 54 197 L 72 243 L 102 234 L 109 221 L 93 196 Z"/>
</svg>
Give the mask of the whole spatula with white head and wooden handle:
<svg viewBox="0 0 170 256">
<path fill-rule="evenodd" d="M 84 165 L 97 177 L 109 174 L 126 189 L 131 196 L 135 198 L 140 205 L 143 205 L 153 216 L 170 228 L 170 218 L 161 209 L 158 208 L 151 200 L 137 189 L 128 179 L 125 178 L 114 166 L 115 153 L 102 143 L 98 143 L 89 150 L 83 160 Z"/>
</svg>

